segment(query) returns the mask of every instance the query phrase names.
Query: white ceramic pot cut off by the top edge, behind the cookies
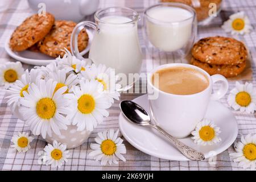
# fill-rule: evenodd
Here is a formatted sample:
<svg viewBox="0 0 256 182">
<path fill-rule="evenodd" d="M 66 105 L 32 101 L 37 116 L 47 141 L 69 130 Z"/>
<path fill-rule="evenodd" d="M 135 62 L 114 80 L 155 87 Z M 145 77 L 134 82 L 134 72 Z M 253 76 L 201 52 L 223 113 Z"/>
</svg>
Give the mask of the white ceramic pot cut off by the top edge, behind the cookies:
<svg viewBox="0 0 256 182">
<path fill-rule="evenodd" d="M 53 14 L 55 19 L 72 20 L 79 22 L 84 16 L 93 14 L 100 0 L 28 0 L 28 5 L 37 13 L 46 5 L 46 11 Z"/>
</svg>

